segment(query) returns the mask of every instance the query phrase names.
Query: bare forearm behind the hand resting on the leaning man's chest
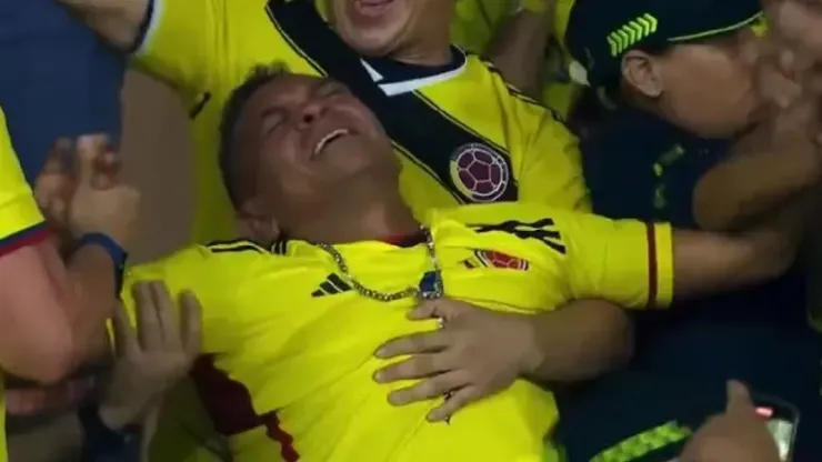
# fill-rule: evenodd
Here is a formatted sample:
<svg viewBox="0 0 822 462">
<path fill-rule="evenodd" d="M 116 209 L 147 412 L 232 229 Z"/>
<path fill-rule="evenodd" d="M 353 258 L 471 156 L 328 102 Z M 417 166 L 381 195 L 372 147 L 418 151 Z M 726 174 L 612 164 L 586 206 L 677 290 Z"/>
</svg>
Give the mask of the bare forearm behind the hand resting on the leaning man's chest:
<svg viewBox="0 0 822 462">
<path fill-rule="evenodd" d="M 633 353 L 626 313 L 604 300 L 578 300 L 530 317 L 533 348 L 529 379 L 565 383 L 595 378 L 624 364 Z"/>
</svg>

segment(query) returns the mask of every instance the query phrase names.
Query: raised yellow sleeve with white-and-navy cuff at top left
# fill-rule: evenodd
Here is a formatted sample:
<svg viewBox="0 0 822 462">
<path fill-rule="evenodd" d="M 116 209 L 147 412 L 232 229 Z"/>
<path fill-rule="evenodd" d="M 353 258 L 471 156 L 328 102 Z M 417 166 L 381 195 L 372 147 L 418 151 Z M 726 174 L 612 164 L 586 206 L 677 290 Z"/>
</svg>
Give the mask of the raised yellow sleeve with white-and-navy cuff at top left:
<svg viewBox="0 0 822 462">
<path fill-rule="evenodd" d="M 244 0 L 231 0 L 235 4 Z M 224 64 L 227 0 L 149 0 L 133 58 L 193 103 Z M 190 108 L 191 109 L 191 108 Z"/>
</svg>

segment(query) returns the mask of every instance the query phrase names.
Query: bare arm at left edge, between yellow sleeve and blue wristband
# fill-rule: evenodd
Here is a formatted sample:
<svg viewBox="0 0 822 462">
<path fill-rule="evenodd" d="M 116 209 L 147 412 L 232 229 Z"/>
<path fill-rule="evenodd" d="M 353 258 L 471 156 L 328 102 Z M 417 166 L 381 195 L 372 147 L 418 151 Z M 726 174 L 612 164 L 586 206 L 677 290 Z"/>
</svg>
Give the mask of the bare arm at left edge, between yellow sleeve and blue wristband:
<svg viewBox="0 0 822 462">
<path fill-rule="evenodd" d="M 92 344 L 110 304 L 87 304 L 89 287 L 113 285 L 114 265 L 97 245 L 80 248 L 68 265 L 50 240 L 0 257 L 0 365 L 10 374 L 52 383 Z"/>
</svg>

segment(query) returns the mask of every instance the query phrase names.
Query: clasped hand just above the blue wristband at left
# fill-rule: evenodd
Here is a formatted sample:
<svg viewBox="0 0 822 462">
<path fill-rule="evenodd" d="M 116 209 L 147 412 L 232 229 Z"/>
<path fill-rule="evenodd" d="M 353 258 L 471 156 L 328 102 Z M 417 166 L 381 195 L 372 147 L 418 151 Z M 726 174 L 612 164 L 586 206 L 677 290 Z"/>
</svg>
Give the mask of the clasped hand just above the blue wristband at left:
<svg viewBox="0 0 822 462">
<path fill-rule="evenodd" d="M 73 235 L 100 232 L 127 248 L 136 233 L 140 194 L 122 182 L 106 137 L 78 139 L 72 182 L 68 223 Z"/>
</svg>

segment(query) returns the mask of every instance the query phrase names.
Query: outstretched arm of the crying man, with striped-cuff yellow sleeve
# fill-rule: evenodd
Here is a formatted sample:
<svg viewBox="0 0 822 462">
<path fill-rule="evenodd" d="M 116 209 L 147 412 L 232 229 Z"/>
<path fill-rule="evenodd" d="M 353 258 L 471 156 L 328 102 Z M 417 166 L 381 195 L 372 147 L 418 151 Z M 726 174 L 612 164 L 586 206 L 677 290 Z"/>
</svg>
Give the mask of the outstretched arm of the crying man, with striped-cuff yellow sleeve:
<svg viewBox="0 0 822 462">
<path fill-rule="evenodd" d="M 672 230 L 664 223 L 554 213 L 552 228 L 567 252 L 573 298 L 600 297 L 625 308 L 660 307 L 762 282 L 793 261 L 774 220 L 751 231 L 723 234 Z"/>
</svg>

